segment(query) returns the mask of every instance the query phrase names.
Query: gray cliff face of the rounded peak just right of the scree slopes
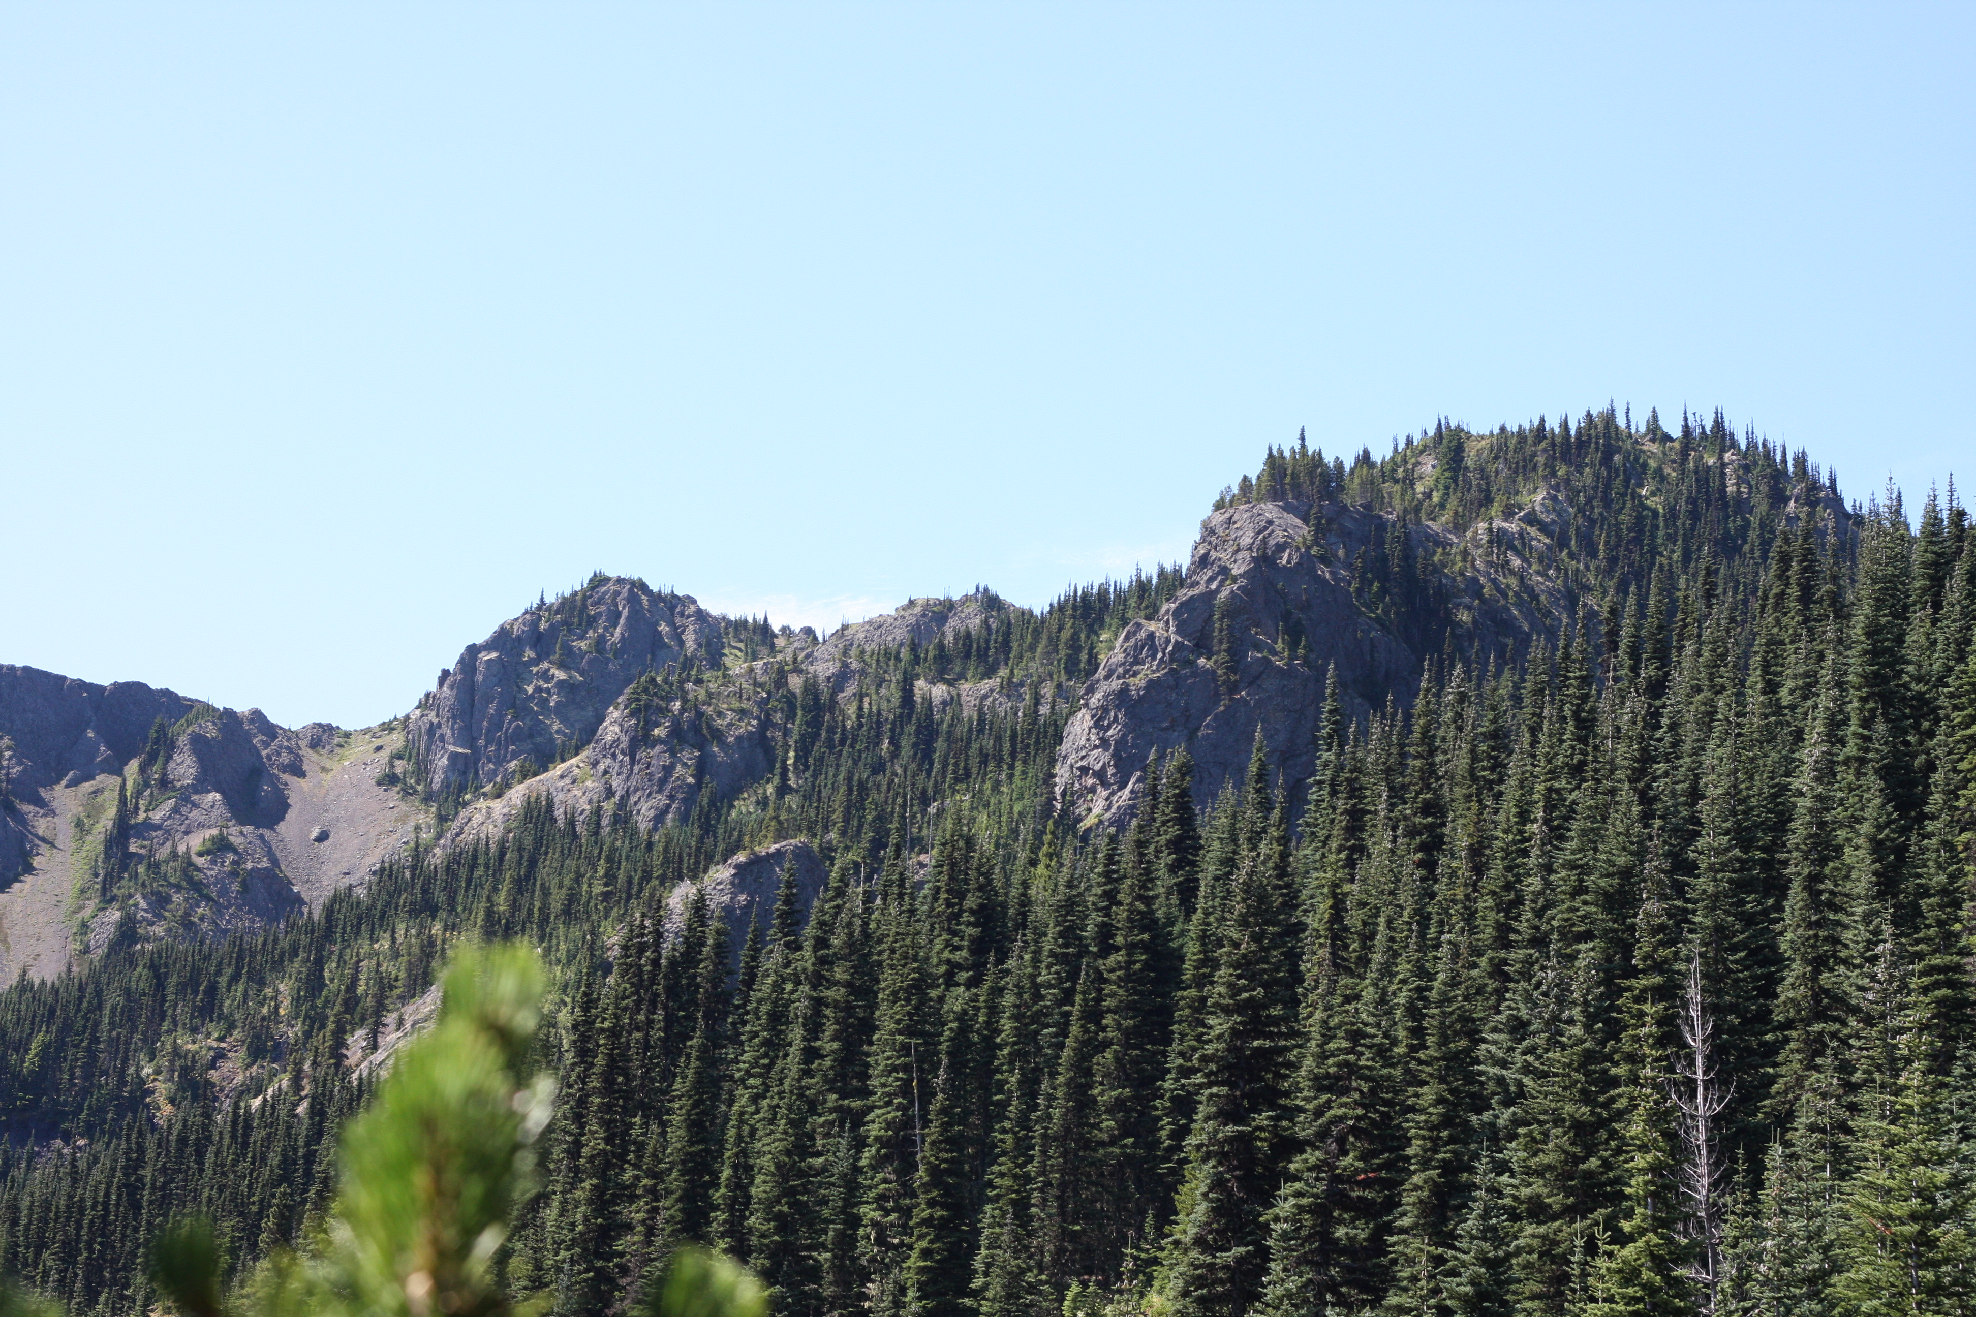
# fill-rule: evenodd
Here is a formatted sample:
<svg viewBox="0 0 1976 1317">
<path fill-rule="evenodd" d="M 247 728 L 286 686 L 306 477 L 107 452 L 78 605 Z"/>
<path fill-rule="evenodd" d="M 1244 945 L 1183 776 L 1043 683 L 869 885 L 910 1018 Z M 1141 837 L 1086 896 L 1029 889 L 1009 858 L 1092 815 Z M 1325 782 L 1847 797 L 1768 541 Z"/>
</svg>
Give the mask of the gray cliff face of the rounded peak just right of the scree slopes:
<svg viewBox="0 0 1976 1317">
<path fill-rule="evenodd" d="M 692 596 L 599 579 L 466 646 L 407 723 L 435 792 L 532 778 L 587 744 L 644 669 L 719 663 L 725 620 Z"/>
</svg>

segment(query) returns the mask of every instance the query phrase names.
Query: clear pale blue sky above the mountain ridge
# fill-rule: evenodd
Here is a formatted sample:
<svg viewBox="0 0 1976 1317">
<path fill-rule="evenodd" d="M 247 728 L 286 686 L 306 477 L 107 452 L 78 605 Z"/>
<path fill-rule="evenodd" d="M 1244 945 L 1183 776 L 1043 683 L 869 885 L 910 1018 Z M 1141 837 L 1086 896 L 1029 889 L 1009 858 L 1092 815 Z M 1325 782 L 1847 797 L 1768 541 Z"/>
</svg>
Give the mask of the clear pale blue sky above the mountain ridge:
<svg viewBox="0 0 1976 1317">
<path fill-rule="evenodd" d="M 0 661 L 366 725 L 591 569 L 1180 559 L 1267 442 L 1976 462 L 1970 6 L 0 6 Z"/>
</svg>

